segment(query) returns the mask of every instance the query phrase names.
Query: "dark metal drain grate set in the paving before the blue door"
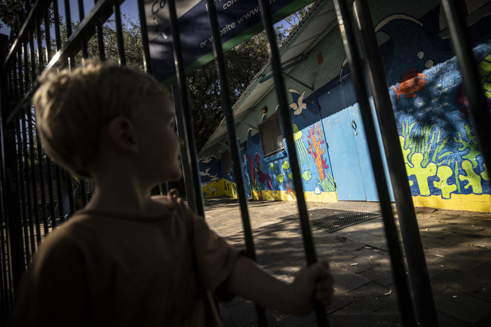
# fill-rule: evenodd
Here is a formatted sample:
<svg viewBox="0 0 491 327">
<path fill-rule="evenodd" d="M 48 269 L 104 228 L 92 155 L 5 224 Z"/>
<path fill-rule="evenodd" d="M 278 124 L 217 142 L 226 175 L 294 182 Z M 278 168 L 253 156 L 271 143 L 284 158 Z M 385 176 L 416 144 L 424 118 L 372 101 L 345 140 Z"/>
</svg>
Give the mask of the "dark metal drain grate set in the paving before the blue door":
<svg viewBox="0 0 491 327">
<path fill-rule="evenodd" d="M 363 213 L 359 211 L 339 210 L 339 209 L 314 209 L 308 211 L 310 224 L 313 227 L 333 232 L 362 221 L 382 217 L 381 214 Z M 281 217 L 281 220 L 300 223 L 297 214 Z"/>
</svg>

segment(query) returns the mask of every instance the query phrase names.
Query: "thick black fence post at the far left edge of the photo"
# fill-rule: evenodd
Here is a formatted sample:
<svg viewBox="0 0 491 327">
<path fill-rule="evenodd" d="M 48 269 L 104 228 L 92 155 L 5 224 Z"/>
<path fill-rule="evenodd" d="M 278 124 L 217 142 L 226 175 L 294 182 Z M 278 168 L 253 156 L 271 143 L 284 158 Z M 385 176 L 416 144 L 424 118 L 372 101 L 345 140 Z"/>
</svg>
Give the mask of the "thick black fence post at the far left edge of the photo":
<svg viewBox="0 0 491 327">
<path fill-rule="evenodd" d="M 15 122 L 11 120 L 5 123 L 10 111 L 11 101 L 15 100 L 12 85 L 12 63 L 8 63 L 2 68 L 0 80 L 0 101 L 2 102 L 2 141 L 4 145 L 4 155 L 1 156 L 3 167 L 5 169 L 5 184 L 3 195 L 5 196 L 5 218 L 7 227 L 7 248 L 9 250 L 9 273 L 10 280 L 13 285 L 10 285 L 10 290 L 14 289 L 20 282 L 20 277 L 24 272 L 24 249 L 22 240 L 22 225 L 20 223 L 20 199 L 18 192 L 18 184 L 15 180 L 17 176 L 17 155 L 15 149 Z M 11 296 L 12 294 L 10 294 Z"/>
</svg>

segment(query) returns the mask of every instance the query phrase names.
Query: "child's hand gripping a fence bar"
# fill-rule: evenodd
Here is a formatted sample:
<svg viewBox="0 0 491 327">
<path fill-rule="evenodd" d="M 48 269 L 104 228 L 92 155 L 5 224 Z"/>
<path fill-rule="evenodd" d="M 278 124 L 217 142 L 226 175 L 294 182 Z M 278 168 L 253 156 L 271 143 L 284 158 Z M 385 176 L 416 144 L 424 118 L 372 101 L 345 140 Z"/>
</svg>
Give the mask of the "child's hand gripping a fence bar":
<svg viewBox="0 0 491 327">
<path fill-rule="evenodd" d="M 319 300 L 323 306 L 329 305 L 333 284 L 334 278 L 329 271 L 327 261 L 320 261 L 300 269 L 295 281 L 289 285 L 292 300 L 296 303 L 292 313 L 309 314 L 314 309 L 313 298 Z"/>
</svg>

